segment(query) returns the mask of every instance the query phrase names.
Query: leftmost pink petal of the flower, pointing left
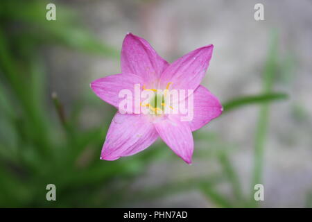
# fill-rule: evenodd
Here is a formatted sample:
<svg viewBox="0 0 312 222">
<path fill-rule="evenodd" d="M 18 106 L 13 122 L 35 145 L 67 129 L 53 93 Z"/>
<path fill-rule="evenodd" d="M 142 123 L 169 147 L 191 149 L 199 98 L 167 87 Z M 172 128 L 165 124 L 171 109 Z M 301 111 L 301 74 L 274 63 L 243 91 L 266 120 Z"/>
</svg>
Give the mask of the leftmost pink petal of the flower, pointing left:
<svg viewBox="0 0 312 222">
<path fill-rule="evenodd" d="M 119 98 L 119 92 L 121 89 L 129 89 L 132 92 L 132 105 L 135 104 L 135 84 L 140 84 L 140 88 L 144 85 L 144 81 L 141 77 L 134 74 L 116 74 L 112 76 L 106 76 L 104 78 L 98 78 L 91 83 L 91 87 L 96 94 L 103 101 L 119 107 L 119 103 L 125 99 Z M 133 109 L 135 106 L 133 105 Z"/>
</svg>

